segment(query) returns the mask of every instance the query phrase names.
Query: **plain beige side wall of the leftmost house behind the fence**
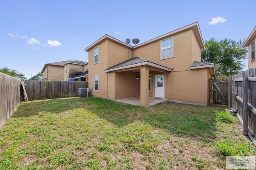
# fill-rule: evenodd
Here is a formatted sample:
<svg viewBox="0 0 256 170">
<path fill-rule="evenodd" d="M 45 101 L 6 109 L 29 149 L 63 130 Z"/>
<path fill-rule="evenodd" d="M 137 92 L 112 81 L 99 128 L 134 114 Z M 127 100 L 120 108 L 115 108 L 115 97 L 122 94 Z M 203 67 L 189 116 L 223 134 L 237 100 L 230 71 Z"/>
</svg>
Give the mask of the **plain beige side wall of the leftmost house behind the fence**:
<svg viewBox="0 0 256 170">
<path fill-rule="evenodd" d="M 64 68 L 62 66 L 48 65 L 48 80 L 63 81 L 64 80 L 63 69 Z"/>
</svg>

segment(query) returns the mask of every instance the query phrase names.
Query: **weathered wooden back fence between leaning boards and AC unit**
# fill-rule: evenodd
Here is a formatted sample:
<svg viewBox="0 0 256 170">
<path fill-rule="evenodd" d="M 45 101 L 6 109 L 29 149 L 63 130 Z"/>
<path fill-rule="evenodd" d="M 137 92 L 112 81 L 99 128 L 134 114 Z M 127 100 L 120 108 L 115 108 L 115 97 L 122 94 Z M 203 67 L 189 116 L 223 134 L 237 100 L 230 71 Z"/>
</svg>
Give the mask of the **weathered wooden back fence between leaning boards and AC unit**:
<svg viewBox="0 0 256 170">
<path fill-rule="evenodd" d="M 88 82 L 24 80 L 28 100 L 78 96 L 78 88 L 88 88 Z"/>
</svg>

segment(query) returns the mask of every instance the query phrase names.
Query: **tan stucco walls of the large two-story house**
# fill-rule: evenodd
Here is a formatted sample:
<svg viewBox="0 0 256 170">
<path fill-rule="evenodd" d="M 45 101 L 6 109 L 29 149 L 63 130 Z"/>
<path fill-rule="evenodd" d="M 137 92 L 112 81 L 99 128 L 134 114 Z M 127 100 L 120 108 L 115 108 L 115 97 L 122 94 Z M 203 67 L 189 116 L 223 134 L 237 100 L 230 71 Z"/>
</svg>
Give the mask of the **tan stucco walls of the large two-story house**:
<svg viewBox="0 0 256 170">
<path fill-rule="evenodd" d="M 208 102 L 208 70 L 190 70 L 193 61 L 200 61 L 201 49 L 192 29 L 172 35 L 173 57 L 160 60 L 160 42 L 163 39 L 130 49 L 111 40 L 101 42 L 99 47 L 99 63 L 94 64 L 94 48 L 88 51 L 89 88 L 92 92 L 94 75 L 99 75 L 99 92 L 94 96 L 108 99 L 120 99 L 140 96 L 140 81 L 136 81 L 136 72 L 110 72 L 104 70 L 110 66 L 126 61 L 132 57 L 140 57 L 156 64 L 173 68 L 166 73 L 166 99 L 207 104 Z M 167 39 L 167 38 L 164 38 Z M 101 63 L 102 62 L 102 63 Z M 152 92 L 154 97 L 154 75 L 152 74 Z M 91 93 L 92 94 L 92 93 Z"/>
</svg>

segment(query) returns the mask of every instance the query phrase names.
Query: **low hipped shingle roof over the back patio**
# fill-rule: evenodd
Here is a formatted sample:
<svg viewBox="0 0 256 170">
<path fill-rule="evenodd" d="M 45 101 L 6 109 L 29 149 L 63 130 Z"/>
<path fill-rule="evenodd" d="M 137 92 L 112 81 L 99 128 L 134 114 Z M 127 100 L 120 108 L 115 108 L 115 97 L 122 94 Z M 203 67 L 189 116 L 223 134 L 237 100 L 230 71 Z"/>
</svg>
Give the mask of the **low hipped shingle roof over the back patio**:
<svg viewBox="0 0 256 170">
<path fill-rule="evenodd" d="M 110 71 L 116 71 L 116 70 L 122 70 L 122 69 L 126 69 L 126 68 L 132 68 L 132 67 L 137 67 L 137 66 L 152 66 L 155 68 L 160 68 L 162 70 L 166 70 L 166 71 L 172 71 L 171 68 L 156 64 L 156 63 L 152 63 L 150 61 L 147 61 L 145 59 L 141 59 L 140 57 L 133 57 L 129 60 L 126 60 L 122 63 L 116 64 L 114 66 L 111 66 L 109 68 L 107 68 L 106 70 L 104 70 L 104 72 L 110 72 Z"/>
</svg>

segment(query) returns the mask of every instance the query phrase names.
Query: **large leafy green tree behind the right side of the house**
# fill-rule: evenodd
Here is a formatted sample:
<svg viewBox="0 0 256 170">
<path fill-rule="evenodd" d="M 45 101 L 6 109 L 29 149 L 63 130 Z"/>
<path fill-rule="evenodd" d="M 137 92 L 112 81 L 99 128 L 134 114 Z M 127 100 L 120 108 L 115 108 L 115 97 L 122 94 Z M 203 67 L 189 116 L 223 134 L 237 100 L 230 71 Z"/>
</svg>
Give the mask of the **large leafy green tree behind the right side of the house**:
<svg viewBox="0 0 256 170">
<path fill-rule="evenodd" d="M 248 57 L 248 49 L 243 48 L 244 40 L 236 42 L 232 39 L 216 41 L 213 37 L 205 41 L 205 49 L 201 51 L 203 62 L 220 64 L 216 76 L 232 76 L 244 68 L 243 61 Z"/>
</svg>

